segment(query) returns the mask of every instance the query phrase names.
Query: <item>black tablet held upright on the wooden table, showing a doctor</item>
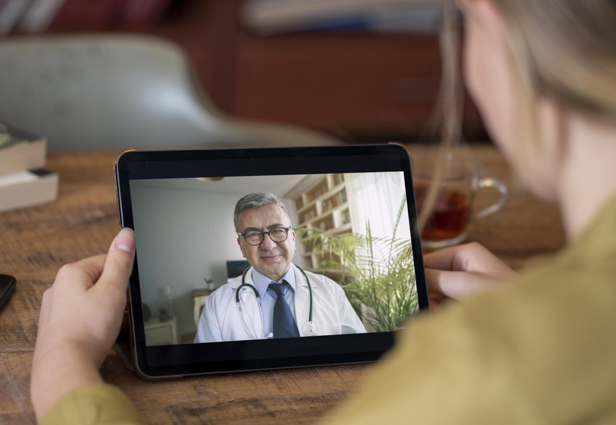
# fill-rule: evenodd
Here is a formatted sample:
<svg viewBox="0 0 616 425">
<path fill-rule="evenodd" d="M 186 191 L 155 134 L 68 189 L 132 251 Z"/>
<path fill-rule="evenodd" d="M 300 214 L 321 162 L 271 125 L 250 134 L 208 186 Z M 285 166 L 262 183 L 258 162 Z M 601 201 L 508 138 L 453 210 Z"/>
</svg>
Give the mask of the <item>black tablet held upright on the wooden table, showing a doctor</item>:
<svg viewBox="0 0 616 425">
<path fill-rule="evenodd" d="M 402 145 L 124 152 L 142 378 L 378 360 L 428 309 Z"/>
</svg>

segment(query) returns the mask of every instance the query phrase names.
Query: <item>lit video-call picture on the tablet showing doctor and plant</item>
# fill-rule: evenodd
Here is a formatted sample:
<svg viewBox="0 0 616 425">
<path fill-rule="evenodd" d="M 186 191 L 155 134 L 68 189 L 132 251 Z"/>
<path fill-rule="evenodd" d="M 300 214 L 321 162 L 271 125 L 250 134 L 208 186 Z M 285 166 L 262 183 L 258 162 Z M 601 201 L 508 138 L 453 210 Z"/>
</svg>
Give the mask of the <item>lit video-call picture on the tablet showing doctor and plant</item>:
<svg viewBox="0 0 616 425">
<path fill-rule="evenodd" d="M 418 311 L 402 171 L 130 191 L 147 346 L 387 332 Z"/>
</svg>

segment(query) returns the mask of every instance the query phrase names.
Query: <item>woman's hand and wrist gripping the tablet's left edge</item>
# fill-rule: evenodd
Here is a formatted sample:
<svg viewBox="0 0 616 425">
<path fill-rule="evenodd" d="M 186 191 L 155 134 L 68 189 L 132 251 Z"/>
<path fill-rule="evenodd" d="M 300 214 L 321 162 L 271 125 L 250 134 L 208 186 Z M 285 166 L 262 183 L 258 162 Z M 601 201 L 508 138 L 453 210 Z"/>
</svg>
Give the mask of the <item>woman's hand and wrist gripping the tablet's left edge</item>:
<svg viewBox="0 0 616 425">
<path fill-rule="evenodd" d="M 40 420 L 63 395 L 102 382 L 99 368 L 118 336 L 135 235 L 123 229 L 109 253 L 67 264 L 43 294 L 30 397 Z"/>
</svg>

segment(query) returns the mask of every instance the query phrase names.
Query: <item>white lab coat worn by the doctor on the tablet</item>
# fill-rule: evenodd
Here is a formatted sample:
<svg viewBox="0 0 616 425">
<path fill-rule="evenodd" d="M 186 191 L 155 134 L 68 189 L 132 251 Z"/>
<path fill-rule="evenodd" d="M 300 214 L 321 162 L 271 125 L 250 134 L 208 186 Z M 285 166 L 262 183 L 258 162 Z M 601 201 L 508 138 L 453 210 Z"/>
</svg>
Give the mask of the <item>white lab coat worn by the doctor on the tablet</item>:
<svg viewBox="0 0 616 425">
<path fill-rule="evenodd" d="M 300 336 L 302 325 L 308 322 L 310 293 L 302 272 L 291 264 L 295 272 L 295 314 Z M 344 291 L 328 277 L 306 272 L 312 286 L 312 322 L 317 325 L 317 335 L 365 333 L 361 320 L 351 307 Z M 246 273 L 246 283 L 253 284 L 252 273 Z M 241 321 L 235 302 L 235 291 L 241 285 L 241 276 L 216 289 L 206 300 L 195 342 L 241 341 L 252 339 Z M 244 320 L 253 335 L 261 338 L 261 313 L 256 297 L 250 288 L 241 290 L 241 307 Z"/>
</svg>

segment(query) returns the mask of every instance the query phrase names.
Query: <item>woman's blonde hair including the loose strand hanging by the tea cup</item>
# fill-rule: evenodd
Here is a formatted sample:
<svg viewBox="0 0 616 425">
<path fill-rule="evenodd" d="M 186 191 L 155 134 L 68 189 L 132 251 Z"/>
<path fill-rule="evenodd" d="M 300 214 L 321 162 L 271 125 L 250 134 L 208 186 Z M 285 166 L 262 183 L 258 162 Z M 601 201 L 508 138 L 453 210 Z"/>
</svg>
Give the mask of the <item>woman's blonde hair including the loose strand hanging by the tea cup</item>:
<svg viewBox="0 0 616 425">
<path fill-rule="evenodd" d="M 508 35 L 516 123 L 514 161 L 524 161 L 545 140 L 537 116 L 540 97 L 554 100 L 561 118 L 567 111 L 576 111 L 616 121 L 616 0 L 490 1 L 502 15 Z M 460 141 L 458 30 L 452 8 L 453 0 L 446 1 L 440 32 L 441 152 Z M 444 155 L 442 158 L 419 216 L 420 229 L 442 181 Z"/>
</svg>

